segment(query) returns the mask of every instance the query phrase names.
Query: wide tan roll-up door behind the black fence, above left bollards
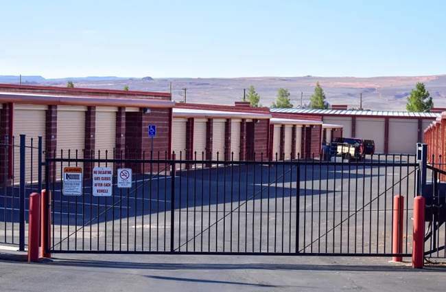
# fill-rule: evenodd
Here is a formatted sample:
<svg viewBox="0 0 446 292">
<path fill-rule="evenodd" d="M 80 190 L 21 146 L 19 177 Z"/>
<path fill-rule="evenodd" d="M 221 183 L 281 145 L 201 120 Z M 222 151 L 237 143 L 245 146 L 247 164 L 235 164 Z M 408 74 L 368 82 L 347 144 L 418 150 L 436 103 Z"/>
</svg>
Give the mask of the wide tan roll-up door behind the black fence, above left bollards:
<svg viewBox="0 0 446 292">
<path fill-rule="evenodd" d="M 25 181 L 26 183 L 38 181 L 38 136 L 42 137 L 42 149 L 45 150 L 46 110 L 46 105 L 15 104 L 14 106 L 13 135 L 14 145 L 16 145 L 14 147 L 14 184 L 20 183 L 20 135 L 26 135 L 26 146 L 31 146 L 32 139 L 33 147 L 25 150 Z M 44 179 L 45 171 L 42 175 Z"/>
</svg>

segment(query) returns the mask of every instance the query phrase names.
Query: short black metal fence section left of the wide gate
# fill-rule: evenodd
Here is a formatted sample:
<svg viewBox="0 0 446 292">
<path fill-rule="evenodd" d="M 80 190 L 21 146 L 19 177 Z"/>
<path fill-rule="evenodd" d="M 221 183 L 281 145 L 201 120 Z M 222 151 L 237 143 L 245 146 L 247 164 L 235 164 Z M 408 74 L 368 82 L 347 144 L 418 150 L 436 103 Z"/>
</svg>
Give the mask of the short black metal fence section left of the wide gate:
<svg viewBox="0 0 446 292">
<path fill-rule="evenodd" d="M 25 135 L 0 143 L 0 243 L 27 245 L 30 194 L 42 189 L 42 137 Z"/>
</svg>

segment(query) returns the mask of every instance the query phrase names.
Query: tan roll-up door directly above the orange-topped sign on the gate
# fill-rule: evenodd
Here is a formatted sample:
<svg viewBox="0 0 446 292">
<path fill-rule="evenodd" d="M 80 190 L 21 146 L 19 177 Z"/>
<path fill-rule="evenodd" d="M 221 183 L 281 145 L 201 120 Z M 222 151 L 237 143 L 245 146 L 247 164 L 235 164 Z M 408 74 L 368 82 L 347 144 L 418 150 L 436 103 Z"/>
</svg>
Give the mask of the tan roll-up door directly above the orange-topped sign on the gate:
<svg viewBox="0 0 446 292">
<path fill-rule="evenodd" d="M 57 157 L 60 157 L 60 150 L 63 150 L 63 158 L 76 157 L 84 158 L 83 149 L 85 148 L 85 112 L 86 106 L 58 106 L 58 130 L 57 130 Z M 83 167 L 82 163 L 64 163 L 65 166 Z M 61 179 L 60 164 L 56 166 L 56 180 Z"/>
</svg>

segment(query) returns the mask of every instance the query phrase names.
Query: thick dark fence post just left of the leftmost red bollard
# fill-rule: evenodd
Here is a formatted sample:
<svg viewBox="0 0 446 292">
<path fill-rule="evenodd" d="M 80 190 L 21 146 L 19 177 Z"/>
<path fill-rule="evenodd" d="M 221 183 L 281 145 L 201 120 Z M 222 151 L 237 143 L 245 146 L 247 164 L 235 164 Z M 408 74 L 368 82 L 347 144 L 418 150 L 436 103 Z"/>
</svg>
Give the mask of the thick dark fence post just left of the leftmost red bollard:
<svg viewBox="0 0 446 292">
<path fill-rule="evenodd" d="M 26 135 L 20 135 L 20 188 L 19 188 L 19 250 L 25 251 L 25 172 Z"/>
</svg>

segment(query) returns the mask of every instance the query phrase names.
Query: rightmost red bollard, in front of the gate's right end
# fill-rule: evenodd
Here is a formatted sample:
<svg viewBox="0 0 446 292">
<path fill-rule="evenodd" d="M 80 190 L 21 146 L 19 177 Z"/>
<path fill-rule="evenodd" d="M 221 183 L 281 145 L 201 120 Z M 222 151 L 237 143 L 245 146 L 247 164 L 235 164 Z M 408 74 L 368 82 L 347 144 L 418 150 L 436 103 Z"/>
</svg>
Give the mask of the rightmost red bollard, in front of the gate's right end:
<svg viewBox="0 0 446 292">
<path fill-rule="evenodd" d="M 425 199 L 414 199 L 414 234 L 412 244 L 412 268 L 422 269 L 424 265 L 424 211 Z"/>
</svg>

